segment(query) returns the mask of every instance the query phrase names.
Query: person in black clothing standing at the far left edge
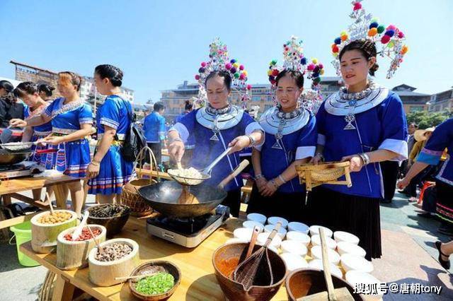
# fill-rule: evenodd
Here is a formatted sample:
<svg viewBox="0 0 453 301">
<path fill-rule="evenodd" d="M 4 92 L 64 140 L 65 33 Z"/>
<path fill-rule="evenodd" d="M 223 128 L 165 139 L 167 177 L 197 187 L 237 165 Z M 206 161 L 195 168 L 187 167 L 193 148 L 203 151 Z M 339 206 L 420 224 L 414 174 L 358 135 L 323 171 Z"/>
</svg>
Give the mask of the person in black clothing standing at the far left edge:
<svg viewBox="0 0 453 301">
<path fill-rule="evenodd" d="M 24 105 L 13 95 L 14 86 L 9 81 L 0 81 L 0 128 L 9 126 L 14 118 L 23 119 Z M 13 131 L 10 142 L 20 141 L 22 131 Z"/>
</svg>

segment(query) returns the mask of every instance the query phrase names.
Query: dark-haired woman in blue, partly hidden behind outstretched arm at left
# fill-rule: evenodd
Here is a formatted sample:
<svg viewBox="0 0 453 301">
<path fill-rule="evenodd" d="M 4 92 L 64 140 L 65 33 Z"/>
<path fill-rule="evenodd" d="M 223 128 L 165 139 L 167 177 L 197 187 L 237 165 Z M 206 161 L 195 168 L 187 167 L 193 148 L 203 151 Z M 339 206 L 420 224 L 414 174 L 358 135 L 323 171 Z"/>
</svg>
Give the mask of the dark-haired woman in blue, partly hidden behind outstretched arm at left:
<svg viewBox="0 0 453 301">
<path fill-rule="evenodd" d="M 30 81 L 19 83 L 16 89 L 14 89 L 13 93 L 16 96 L 16 98 L 21 98 L 21 100 L 25 102 L 26 105 L 24 108 L 25 120 L 28 120 L 36 115 L 41 114 L 42 111 L 44 111 L 45 108 L 49 105 L 48 102 L 46 102 L 40 97 L 38 85 Z M 23 131 L 22 141 L 35 142 L 49 136 L 51 133 L 52 133 L 51 122 L 47 122 L 39 126 L 27 126 Z M 45 146 L 44 144 L 41 143 L 33 144 L 31 148 L 32 155 L 30 156 L 30 158 L 28 158 L 28 160 L 38 163 L 38 165 L 45 167 L 46 170 L 51 170 L 54 167 L 52 165 L 52 155 L 47 153 L 43 153 L 41 155 L 35 153 L 35 151 L 44 149 L 47 149 L 47 146 Z M 32 192 L 33 199 L 35 199 L 36 201 L 41 199 L 41 189 L 33 189 Z M 50 196 L 52 196 L 52 187 L 47 187 L 47 193 Z M 45 201 L 48 201 L 47 196 Z"/>
</svg>

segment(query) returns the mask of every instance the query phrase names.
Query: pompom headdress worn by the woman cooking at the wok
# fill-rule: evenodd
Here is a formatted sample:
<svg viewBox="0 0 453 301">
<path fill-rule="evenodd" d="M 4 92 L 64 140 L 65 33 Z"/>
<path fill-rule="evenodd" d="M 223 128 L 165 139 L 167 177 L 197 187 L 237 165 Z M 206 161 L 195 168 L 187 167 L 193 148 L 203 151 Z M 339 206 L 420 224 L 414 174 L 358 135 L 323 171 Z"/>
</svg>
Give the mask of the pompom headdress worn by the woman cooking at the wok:
<svg viewBox="0 0 453 301">
<path fill-rule="evenodd" d="M 226 71 L 231 76 L 231 88 L 239 93 L 242 107 L 246 108 L 248 100 L 250 100 L 251 85 L 247 84 L 247 71 L 245 67 L 236 59 L 229 59 L 228 48 L 217 37 L 210 44 L 210 60 L 201 63 L 195 79 L 198 81 L 198 104 L 204 105 L 207 101 L 205 81 L 207 76 L 214 71 Z"/>
</svg>

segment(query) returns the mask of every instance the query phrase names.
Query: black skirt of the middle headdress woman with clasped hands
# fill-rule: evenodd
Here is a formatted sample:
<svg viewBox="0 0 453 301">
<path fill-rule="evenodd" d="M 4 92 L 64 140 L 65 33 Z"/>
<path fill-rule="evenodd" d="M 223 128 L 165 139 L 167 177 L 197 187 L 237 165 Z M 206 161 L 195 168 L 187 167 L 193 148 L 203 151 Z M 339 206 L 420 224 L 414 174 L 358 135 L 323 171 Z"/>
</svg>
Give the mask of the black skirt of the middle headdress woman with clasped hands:
<svg viewBox="0 0 453 301">
<path fill-rule="evenodd" d="M 256 185 L 253 185 L 248 201 L 248 213 L 261 213 L 267 217 L 279 216 L 289 222 L 302 223 L 307 223 L 306 216 L 309 216 L 305 205 L 305 193 L 283 194 L 276 191 L 272 196 L 262 196 Z"/>
</svg>

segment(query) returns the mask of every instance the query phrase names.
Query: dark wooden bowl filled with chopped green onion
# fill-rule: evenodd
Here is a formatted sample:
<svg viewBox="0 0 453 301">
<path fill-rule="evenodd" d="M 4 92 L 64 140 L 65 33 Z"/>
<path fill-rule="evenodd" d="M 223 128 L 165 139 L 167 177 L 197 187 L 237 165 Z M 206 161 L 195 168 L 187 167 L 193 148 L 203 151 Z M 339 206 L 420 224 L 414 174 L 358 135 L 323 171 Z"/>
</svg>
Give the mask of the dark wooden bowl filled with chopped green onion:
<svg viewBox="0 0 453 301">
<path fill-rule="evenodd" d="M 129 280 L 129 288 L 141 300 L 167 300 L 180 283 L 181 272 L 170 261 L 149 261 L 132 271 L 131 276 L 142 276 Z"/>
</svg>

